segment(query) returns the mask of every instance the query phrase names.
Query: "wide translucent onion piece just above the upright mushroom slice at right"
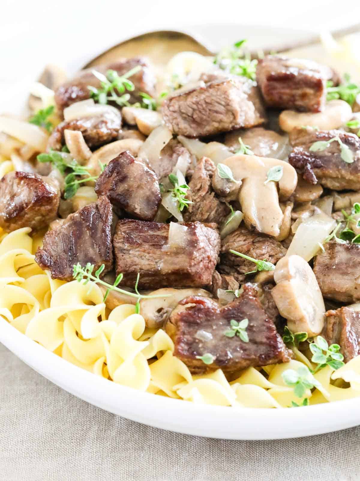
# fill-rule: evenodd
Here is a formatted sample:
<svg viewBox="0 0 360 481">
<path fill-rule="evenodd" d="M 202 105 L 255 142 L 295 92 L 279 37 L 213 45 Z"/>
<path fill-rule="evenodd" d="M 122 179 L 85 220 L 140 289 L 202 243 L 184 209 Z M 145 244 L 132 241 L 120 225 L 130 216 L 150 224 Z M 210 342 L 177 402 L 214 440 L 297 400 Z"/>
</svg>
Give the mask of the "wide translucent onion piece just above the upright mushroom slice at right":
<svg viewBox="0 0 360 481">
<path fill-rule="evenodd" d="M 336 221 L 323 212 L 312 215 L 297 228 L 286 255 L 300 255 L 309 262 L 335 226 Z"/>
</svg>

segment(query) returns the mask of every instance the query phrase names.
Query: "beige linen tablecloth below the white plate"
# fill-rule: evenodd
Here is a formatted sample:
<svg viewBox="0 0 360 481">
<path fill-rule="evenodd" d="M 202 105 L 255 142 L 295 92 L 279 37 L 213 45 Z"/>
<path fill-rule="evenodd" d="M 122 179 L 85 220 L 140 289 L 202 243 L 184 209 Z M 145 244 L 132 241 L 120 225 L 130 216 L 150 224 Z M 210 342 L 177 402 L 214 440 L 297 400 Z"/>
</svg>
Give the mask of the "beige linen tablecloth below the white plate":
<svg viewBox="0 0 360 481">
<path fill-rule="evenodd" d="M 360 427 L 224 441 L 151 428 L 90 405 L 0 344 L 1 481 L 360 480 Z"/>
</svg>

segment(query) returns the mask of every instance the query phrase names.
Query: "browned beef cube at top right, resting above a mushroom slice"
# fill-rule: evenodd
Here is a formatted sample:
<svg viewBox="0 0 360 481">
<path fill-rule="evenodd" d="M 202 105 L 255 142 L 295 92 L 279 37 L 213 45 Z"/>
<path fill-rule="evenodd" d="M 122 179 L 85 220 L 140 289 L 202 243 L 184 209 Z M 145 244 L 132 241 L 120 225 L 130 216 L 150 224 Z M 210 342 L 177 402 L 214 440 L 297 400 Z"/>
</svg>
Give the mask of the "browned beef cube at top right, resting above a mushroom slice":
<svg viewBox="0 0 360 481">
<path fill-rule="evenodd" d="M 326 101 L 326 80 L 333 71 L 318 63 L 266 55 L 260 59 L 256 79 L 269 107 L 321 112 Z"/>
</svg>

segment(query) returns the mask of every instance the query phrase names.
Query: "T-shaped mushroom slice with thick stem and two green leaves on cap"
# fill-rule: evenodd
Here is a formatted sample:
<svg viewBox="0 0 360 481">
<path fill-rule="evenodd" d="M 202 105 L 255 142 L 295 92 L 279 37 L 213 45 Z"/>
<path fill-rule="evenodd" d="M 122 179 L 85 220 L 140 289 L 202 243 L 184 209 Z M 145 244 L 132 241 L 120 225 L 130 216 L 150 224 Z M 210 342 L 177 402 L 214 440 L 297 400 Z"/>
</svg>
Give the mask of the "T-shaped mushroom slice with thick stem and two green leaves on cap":
<svg viewBox="0 0 360 481">
<path fill-rule="evenodd" d="M 282 160 L 257 157 L 256 155 L 234 155 L 223 161 L 232 172 L 237 182 L 242 184 L 239 190 L 239 202 L 244 214 L 246 226 L 259 232 L 277 237 L 284 214 L 279 205 L 279 196 L 287 200 L 294 192 L 297 184 L 295 169 Z M 282 177 L 278 182 L 266 182 L 267 173 L 272 167 L 283 168 Z M 222 180 L 215 172 L 213 188 L 220 193 L 216 185 Z M 226 179 L 229 185 L 234 184 Z M 266 182 L 266 183 L 265 183 Z M 279 193 L 277 191 L 279 189 Z M 221 195 L 221 194 L 220 194 Z"/>
</svg>

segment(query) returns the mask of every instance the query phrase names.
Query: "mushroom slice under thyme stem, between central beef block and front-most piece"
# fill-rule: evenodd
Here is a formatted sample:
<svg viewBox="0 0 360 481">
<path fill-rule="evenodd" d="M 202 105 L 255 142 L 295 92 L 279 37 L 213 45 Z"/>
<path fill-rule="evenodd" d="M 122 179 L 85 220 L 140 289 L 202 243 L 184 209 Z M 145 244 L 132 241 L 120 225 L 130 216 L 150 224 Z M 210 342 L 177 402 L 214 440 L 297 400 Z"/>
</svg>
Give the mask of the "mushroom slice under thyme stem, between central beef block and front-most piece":
<svg viewBox="0 0 360 481">
<path fill-rule="evenodd" d="M 164 288 L 152 292 L 152 294 L 164 294 L 169 297 L 156 299 L 142 299 L 140 301 L 140 313 L 145 319 L 148 328 L 159 328 L 168 319 L 172 310 L 178 303 L 189 296 L 211 297 L 210 292 L 204 289 L 172 289 Z"/>
</svg>

